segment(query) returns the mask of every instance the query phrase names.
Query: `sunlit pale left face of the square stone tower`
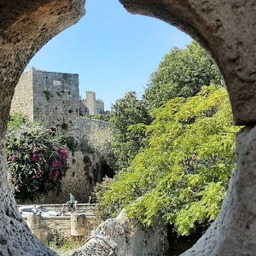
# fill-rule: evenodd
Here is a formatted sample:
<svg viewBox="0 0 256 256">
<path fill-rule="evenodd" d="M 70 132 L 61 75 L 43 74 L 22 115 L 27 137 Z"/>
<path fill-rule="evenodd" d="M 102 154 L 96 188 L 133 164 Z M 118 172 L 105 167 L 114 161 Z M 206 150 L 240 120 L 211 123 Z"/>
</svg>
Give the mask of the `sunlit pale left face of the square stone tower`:
<svg viewBox="0 0 256 256">
<path fill-rule="evenodd" d="M 33 119 L 33 69 L 23 73 L 15 88 L 15 95 L 11 104 L 11 113 L 24 113 L 30 120 Z"/>
</svg>

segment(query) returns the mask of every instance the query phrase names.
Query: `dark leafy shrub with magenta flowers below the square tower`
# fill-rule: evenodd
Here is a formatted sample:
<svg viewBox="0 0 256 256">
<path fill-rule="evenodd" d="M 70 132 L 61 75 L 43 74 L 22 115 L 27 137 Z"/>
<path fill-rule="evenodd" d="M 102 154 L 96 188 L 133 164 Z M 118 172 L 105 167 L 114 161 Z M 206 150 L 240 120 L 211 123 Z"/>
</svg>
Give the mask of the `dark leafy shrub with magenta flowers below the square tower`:
<svg viewBox="0 0 256 256">
<path fill-rule="evenodd" d="M 67 151 L 44 127 L 31 126 L 9 131 L 7 164 L 15 198 L 34 199 L 50 190 L 61 191 Z"/>
</svg>

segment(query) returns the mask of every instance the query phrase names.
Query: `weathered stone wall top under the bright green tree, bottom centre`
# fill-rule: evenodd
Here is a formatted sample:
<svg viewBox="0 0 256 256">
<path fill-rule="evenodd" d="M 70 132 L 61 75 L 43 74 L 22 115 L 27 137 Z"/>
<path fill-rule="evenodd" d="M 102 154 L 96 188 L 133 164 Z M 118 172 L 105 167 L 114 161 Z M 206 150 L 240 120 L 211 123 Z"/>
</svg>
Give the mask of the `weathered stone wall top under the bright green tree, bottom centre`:
<svg viewBox="0 0 256 256">
<path fill-rule="evenodd" d="M 158 224 L 149 230 L 134 226 L 123 210 L 117 218 L 109 218 L 73 256 L 161 256 L 169 248 L 166 228 Z"/>
</svg>

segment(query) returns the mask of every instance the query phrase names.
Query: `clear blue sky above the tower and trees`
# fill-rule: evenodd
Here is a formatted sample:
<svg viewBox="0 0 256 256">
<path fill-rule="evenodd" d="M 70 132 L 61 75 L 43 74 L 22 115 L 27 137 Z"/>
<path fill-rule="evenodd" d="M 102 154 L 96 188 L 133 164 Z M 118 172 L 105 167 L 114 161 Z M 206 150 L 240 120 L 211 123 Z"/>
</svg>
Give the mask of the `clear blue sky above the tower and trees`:
<svg viewBox="0 0 256 256">
<path fill-rule="evenodd" d="M 131 15 L 118 0 L 87 0 L 85 9 L 84 17 L 44 45 L 27 68 L 79 73 L 80 96 L 95 91 L 105 110 L 127 91 L 140 97 L 164 55 L 191 42 L 161 20 Z"/>
</svg>

